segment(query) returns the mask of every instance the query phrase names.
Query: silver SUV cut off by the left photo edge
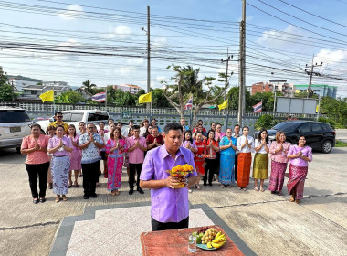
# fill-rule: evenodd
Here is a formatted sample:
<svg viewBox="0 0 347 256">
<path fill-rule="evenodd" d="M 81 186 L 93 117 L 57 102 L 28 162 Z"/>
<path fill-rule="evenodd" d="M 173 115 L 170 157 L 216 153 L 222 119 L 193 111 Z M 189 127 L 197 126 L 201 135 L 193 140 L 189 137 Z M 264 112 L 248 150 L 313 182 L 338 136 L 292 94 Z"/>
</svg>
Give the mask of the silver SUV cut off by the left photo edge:
<svg viewBox="0 0 347 256">
<path fill-rule="evenodd" d="M 30 134 L 31 123 L 25 109 L 0 106 L 0 148 L 14 147 L 20 152 L 23 137 Z"/>
</svg>

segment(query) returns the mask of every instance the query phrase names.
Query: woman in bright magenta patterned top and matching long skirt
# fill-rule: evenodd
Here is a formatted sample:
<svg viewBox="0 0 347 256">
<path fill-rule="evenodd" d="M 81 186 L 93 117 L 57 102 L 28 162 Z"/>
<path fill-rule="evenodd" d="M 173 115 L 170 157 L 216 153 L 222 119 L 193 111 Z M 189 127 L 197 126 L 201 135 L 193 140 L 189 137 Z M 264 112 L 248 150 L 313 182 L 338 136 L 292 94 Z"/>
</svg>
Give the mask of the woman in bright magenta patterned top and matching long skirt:
<svg viewBox="0 0 347 256">
<path fill-rule="evenodd" d="M 106 144 L 108 158 L 108 183 L 107 189 L 112 196 L 120 195 L 121 169 L 123 166 L 124 152 L 126 151 L 125 140 L 121 138 L 121 129 L 111 130 L 110 139 Z"/>
</svg>

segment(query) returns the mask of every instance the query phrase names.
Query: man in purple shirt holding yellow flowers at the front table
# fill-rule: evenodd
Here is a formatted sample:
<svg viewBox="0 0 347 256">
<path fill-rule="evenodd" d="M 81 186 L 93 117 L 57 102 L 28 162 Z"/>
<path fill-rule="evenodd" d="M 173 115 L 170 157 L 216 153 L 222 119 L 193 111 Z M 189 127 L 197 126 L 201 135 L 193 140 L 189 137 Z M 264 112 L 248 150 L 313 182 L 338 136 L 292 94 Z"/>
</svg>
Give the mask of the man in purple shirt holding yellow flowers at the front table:
<svg viewBox="0 0 347 256">
<path fill-rule="evenodd" d="M 166 124 L 164 144 L 149 151 L 142 165 L 140 186 L 151 189 L 153 231 L 188 228 L 188 186 L 197 181 L 196 171 L 184 178 L 184 188 L 174 188 L 179 178 L 165 172 L 176 165 L 188 164 L 195 168 L 194 156 L 190 150 L 181 147 L 182 140 L 181 124 Z"/>
</svg>

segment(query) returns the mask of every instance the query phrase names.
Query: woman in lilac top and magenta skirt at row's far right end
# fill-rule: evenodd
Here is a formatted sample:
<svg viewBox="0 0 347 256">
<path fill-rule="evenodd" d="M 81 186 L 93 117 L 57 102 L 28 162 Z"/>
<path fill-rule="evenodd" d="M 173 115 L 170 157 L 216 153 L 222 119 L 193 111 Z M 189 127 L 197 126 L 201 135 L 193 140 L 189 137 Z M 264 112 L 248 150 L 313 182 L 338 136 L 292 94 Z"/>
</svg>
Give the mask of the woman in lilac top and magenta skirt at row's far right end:
<svg viewBox="0 0 347 256">
<path fill-rule="evenodd" d="M 289 148 L 287 157 L 289 158 L 289 181 L 287 184 L 288 193 L 291 195 L 290 202 L 300 203 L 303 197 L 305 179 L 309 170 L 309 162 L 312 161 L 312 149 L 305 146 L 305 136 L 300 136 L 298 145 Z"/>
</svg>

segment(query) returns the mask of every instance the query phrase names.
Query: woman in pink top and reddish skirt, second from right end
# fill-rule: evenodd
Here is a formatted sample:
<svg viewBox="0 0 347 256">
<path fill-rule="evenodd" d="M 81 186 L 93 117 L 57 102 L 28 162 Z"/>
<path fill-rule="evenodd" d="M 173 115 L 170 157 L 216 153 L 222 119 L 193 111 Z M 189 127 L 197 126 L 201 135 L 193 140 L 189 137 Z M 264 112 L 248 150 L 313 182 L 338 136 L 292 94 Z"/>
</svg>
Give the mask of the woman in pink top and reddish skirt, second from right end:
<svg viewBox="0 0 347 256">
<path fill-rule="evenodd" d="M 283 132 L 276 133 L 276 141 L 270 146 L 271 154 L 271 175 L 268 183 L 268 190 L 271 194 L 282 196 L 284 174 L 288 163 L 289 142 L 286 142 L 286 135 Z"/>
</svg>

